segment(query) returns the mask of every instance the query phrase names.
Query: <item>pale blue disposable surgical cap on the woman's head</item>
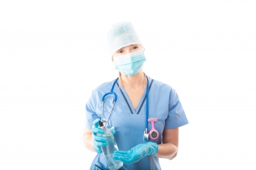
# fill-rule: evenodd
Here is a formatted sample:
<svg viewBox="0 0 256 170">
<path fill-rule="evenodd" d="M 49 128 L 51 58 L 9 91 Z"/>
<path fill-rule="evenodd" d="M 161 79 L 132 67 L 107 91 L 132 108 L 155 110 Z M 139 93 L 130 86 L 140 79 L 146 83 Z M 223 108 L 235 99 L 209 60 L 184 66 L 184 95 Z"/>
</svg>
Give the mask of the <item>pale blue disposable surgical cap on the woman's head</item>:
<svg viewBox="0 0 256 170">
<path fill-rule="evenodd" d="M 132 22 L 117 22 L 112 25 L 112 28 L 108 33 L 108 48 L 111 57 L 120 48 L 132 44 L 140 44 L 144 50 L 144 46 L 141 43 Z"/>
</svg>

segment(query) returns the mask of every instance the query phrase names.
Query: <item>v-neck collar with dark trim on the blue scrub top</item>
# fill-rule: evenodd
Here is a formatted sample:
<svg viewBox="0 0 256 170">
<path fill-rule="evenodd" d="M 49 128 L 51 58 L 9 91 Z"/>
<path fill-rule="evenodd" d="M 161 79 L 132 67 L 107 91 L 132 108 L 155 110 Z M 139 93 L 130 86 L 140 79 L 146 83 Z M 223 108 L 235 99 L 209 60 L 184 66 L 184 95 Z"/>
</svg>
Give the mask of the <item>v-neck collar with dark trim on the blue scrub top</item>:
<svg viewBox="0 0 256 170">
<path fill-rule="evenodd" d="M 152 85 L 153 81 L 154 81 L 153 79 L 149 79 L 149 82 L 148 82 L 148 83 L 150 83 L 150 86 L 148 87 L 148 92 L 150 91 L 150 88 L 151 88 L 151 85 Z M 119 80 L 118 80 L 118 82 L 120 83 Z M 116 82 L 116 83 L 117 83 L 117 86 L 119 87 L 118 82 Z M 126 91 L 124 90 L 123 86 L 121 86 L 121 88 L 119 88 L 119 90 L 120 90 L 120 92 L 122 93 L 123 98 L 124 98 L 124 100 L 125 100 L 127 106 L 129 107 L 131 113 L 132 113 L 132 114 L 139 114 L 139 113 L 140 113 L 140 110 L 141 110 L 141 108 L 142 108 L 142 106 L 143 106 L 143 104 L 144 104 L 144 102 L 145 102 L 145 99 L 146 99 L 146 88 L 145 88 L 145 90 L 144 90 L 144 92 L 143 92 L 143 94 L 142 94 L 142 96 L 141 96 L 141 99 L 140 99 L 140 101 L 139 101 L 139 103 L 138 103 L 138 105 L 137 105 L 137 107 L 136 107 L 135 110 L 134 110 L 133 105 L 132 105 L 132 102 L 131 102 L 129 96 L 127 95 Z M 132 106 L 132 107 L 131 107 L 131 106 Z"/>
</svg>

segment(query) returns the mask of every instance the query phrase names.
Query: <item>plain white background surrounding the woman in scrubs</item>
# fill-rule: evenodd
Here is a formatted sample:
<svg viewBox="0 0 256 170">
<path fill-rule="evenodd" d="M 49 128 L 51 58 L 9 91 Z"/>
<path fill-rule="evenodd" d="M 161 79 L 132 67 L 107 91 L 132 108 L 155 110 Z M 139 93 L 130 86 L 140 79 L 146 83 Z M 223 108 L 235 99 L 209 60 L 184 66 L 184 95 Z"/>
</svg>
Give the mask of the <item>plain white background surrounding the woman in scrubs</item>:
<svg viewBox="0 0 256 170">
<path fill-rule="evenodd" d="M 0 169 L 89 169 L 84 106 L 117 77 L 106 34 L 132 21 L 144 71 L 189 124 L 162 169 L 255 169 L 255 1 L 1 1 Z"/>
</svg>

